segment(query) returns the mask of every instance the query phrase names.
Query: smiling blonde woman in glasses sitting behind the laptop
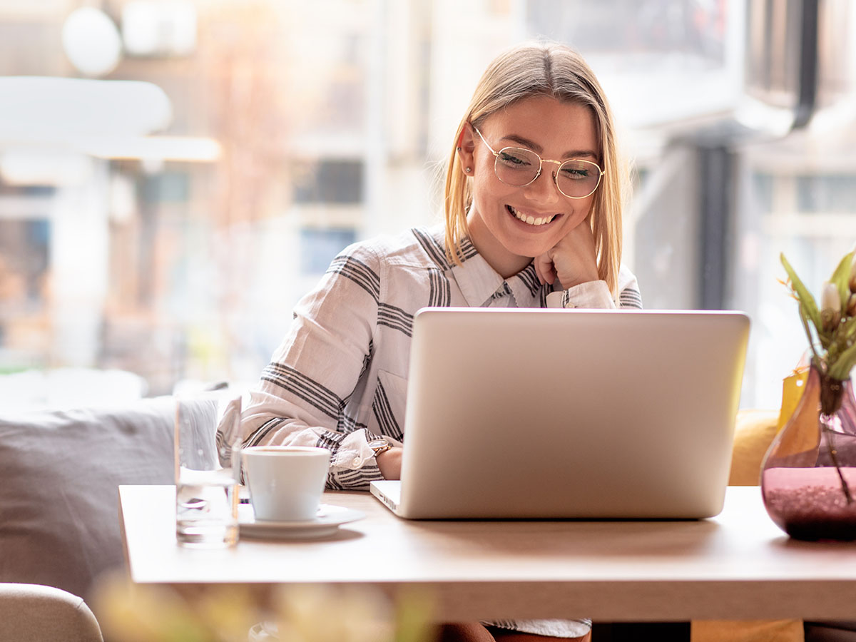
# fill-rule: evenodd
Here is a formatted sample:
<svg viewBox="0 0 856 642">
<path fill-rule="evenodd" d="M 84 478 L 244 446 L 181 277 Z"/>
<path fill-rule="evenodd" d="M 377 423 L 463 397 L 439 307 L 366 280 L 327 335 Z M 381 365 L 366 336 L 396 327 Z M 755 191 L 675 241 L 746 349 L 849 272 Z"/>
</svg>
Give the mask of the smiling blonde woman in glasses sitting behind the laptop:
<svg viewBox="0 0 856 642">
<path fill-rule="evenodd" d="M 615 132 L 586 62 L 562 45 L 491 62 L 449 158 L 445 229 L 354 244 L 295 307 L 242 428 L 245 445 L 320 445 L 328 485 L 401 471 L 413 315 L 424 306 L 641 307 L 621 267 Z M 448 639 L 585 639 L 589 621 L 449 625 Z"/>
</svg>

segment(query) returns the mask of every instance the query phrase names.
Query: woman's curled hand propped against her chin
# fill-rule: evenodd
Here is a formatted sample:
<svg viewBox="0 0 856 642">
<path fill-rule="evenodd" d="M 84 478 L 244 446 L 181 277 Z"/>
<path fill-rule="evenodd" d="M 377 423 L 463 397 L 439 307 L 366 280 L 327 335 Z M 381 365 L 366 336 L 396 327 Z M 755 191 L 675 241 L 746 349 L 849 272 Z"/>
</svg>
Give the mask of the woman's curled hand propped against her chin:
<svg viewBox="0 0 856 642">
<path fill-rule="evenodd" d="M 562 289 L 568 289 L 600 279 L 588 217 L 546 253 L 535 257 L 533 262 L 538 281 L 542 284 L 553 283 L 558 278 Z"/>
</svg>

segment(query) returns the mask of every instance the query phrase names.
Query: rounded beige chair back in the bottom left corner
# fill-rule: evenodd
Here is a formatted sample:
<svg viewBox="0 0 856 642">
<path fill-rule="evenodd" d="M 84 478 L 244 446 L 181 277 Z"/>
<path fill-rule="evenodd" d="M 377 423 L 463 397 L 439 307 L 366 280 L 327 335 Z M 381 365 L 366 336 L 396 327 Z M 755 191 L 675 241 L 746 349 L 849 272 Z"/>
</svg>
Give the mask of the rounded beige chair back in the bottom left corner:
<svg viewBox="0 0 856 642">
<path fill-rule="evenodd" d="M 39 584 L 0 583 L 0 639 L 15 642 L 103 642 L 80 597 Z"/>
</svg>

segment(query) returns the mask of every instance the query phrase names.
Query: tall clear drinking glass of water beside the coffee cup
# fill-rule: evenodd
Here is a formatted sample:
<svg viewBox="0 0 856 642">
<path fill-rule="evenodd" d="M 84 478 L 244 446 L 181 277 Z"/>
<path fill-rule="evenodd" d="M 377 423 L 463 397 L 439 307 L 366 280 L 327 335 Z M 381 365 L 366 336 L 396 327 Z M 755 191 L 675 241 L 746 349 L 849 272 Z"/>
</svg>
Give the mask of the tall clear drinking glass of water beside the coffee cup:
<svg viewBox="0 0 856 642">
<path fill-rule="evenodd" d="M 241 395 L 175 398 L 175 538 L 196 548 L 238 540 Z"/>
</svg>

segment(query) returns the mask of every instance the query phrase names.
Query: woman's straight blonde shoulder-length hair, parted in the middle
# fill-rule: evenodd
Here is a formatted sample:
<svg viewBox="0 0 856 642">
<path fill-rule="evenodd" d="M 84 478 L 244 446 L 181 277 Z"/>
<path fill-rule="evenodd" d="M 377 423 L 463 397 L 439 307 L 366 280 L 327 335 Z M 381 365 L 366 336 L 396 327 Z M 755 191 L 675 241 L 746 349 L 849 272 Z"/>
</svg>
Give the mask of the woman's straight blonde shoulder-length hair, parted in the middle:
<svg viewBox="0 0 856 642">
<path fill-rule="evenodd" d="M 470 183 L 461 171 L 461 160 L 457 154 L 467 122 L 479 127 L 496 111 L 533 96 L 551 96 L 562 102 L 582 104 L 594 116 L 600 147 L 597 164 L 605 174 L 591 201 L 591 231 L 597 251 L 597 273 L 613 296 L 617 296 L 622 193 L 627 192 L 627 167 L 619 159 L 615 124 L 603 89 L 582 56 L 564 45 L 551 43 L 514 47 L 497 56 L 479 80 L 467 113 L 455 132 L 446 170 L 446 253 L 449 260 L 461 265 L 461 241 L 468 235 L 467 211 L 473 204 Z"/>
</svg>

